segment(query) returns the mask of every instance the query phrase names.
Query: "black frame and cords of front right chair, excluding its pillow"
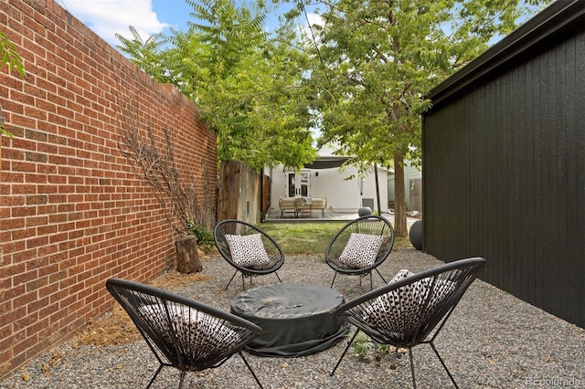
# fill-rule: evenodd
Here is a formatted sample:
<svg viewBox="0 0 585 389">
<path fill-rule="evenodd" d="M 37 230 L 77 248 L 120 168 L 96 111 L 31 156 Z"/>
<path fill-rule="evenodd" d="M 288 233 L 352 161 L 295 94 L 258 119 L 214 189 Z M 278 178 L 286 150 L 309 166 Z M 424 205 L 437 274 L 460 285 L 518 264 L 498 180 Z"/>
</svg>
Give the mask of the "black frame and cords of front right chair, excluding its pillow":
<svg viewBox="0 0 585 389">
<path fill-rule="evenodd" d="M 412 374 L 412 386 L 414 388 L 416 388 L 416 379 L 414 375 L 412 348 L 419 344 L 430 344 L 432 350 L 441 361 L 442 367 L 449 375 L 452 384 L 458 388 L 459 386 L 455 383 L 452 373 L 449 371 L 447 365 L 437 351 L 434 341 L 442 330 L 445 322 L 451 316 L 452 311 L 462 299 L 463 293 L 473 283 L 473 280 L 477 278 L 479 273 L 485 267 L 485 264 L 486 262 L 484 258 L 466 258 L 457 260 L 441 265 L 437 268 L 422 271 L 408 278 L 391 282 L 384 287 L 372 290 L 355 300 L 348 301 L 344 305 L 339 306 L 335 309 L 335 313 L 356 326 L 357 330 L 351 340 L 347 343 L 346 350 L 339 358 L 339 361 L 337 361 L 337 364 L 335 364 L 335 368 L 330 375 L 334 375 L 335 370 L 346 355 L 350 345 L 356 339 L 357 333 L 363 331 L 374 340 L 374 342 L 395 346 L 397 351 L 399 347 L 409 350 L 410 373 Z M 373 301 L 379 301 L 377 299 L 380 296 L 388 295 L 388 293 L 393 291 L 397 291 L 393 295 L 396 296 L 396 294 L 398 294 L 398 289 L 405 286 L 408 288 L 413 283 L 424 279 L 427 279 L 427 285 L 430 285 L 430 288 L 420 304 L 420 310 L 418 310 L 414 317 L 410 317 L 409 323 L 397 321 L 396 323 L 392 322 L 392 324 L 386 322 L 385 324 L 380 325 L 377 322 L 369 320 L 367 312 L 371 311 L 372 305 L 370 304 L 372 304 Z M 441 285 L 441 282 L 452 282 L 452 288 L 447 289 L 446 291 L 445 289 L 441 289 L 441 287 L 438 286 Z M 400 291 L 402 290 L 404 289 L 401 289 Z M 433 299 L 434 302 L 431 303 L 431 300 Z M 374 304 L 375 303 L 376 302 L 374 302 Z M 401 304 L 401 302 L 399 302 L 399 304 Z M 370 307 L 370 310 L 368 310 L 368 307 Z M 400 309 L 404 310 L 404 306 L 400 306 Z M 385 321 L 388 320 L 387 317 Z"/>
</svg>

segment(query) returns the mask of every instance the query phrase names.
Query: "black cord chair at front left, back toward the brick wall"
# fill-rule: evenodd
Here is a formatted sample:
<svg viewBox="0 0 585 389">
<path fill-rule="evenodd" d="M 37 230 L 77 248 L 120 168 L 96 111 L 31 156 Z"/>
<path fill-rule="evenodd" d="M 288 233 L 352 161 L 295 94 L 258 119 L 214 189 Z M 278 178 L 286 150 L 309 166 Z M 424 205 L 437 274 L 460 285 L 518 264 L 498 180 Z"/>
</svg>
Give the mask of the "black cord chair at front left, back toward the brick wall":
<svg viewBox="0 0 585 389">
<path fill-rule="evenodd" d="M 124 279 L 108 279 L 106 288 L 128 312 L 160 363 L 146 387 L 154 383 L 164 366 L 171 366 L 181 371 L 181 388 L 187 372 L 216 368 L 234 353 L 239 353 L 262 387 L 241 352 L 248 342 L 261 335 L 256 324 L 201 302 Z"/>
</svg>

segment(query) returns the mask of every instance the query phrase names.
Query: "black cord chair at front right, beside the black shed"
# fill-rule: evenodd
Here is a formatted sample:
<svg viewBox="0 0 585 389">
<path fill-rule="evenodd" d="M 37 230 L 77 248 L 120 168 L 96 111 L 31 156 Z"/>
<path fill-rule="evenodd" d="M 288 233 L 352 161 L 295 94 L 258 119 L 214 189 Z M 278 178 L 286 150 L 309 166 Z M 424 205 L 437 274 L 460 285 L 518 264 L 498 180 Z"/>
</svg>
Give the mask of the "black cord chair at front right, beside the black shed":
<svg viewBox="0 0 585 389">
<path fill-rule="evenodd" d="M 388 285 L 339 306 L 335 313 L 355 325 L 357 330 L 330 375 L 335 373 L 357 333 L 363 331 L 374 342 L 409 350 L 415 388 L 412 348 L 429 343 L 452 384 L 458 387 L 433 342 L 484 266 L 484 258 L 461 259 L 403 279 L 395 278 L 397 280 Z"/>
</svg>

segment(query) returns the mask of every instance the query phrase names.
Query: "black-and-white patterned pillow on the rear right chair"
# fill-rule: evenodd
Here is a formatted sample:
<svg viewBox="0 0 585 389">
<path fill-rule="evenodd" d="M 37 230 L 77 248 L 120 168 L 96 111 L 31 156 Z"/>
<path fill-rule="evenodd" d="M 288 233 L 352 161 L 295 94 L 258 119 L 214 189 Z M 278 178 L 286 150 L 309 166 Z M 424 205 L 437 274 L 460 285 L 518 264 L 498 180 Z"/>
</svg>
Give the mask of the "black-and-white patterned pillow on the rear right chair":
<svg viewBox="0 0 585 389">
<path fill-rule="evenodd" d="M 352 232 L 339 261 L 347 268 L 369 268 L 374 265 L 384 237 Z"/>
</svg>

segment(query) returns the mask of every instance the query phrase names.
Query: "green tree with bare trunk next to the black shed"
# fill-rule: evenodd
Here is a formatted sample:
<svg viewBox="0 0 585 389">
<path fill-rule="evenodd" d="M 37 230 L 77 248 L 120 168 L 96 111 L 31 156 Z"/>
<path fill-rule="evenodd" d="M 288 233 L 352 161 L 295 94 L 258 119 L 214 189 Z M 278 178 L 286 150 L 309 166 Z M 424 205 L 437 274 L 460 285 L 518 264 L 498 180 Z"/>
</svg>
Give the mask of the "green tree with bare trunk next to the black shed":
<svg viewBox="0 0 585 389">
<path fill-rule="evenodd" d="M 536 12 L 542 1 L 339 0 L 306 42 L 321 64 L 312 69 L 313 110 L 322 121 L 320 142 L 355 155 L 362 166 L 395 171 L 395 232 L 407 236 L 405 158 L 420 161 L 425 95 L 476 58 L 497 35 Z"/>
</svg>

